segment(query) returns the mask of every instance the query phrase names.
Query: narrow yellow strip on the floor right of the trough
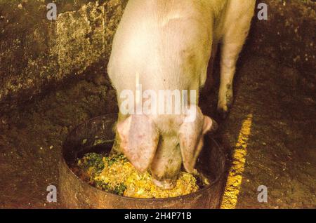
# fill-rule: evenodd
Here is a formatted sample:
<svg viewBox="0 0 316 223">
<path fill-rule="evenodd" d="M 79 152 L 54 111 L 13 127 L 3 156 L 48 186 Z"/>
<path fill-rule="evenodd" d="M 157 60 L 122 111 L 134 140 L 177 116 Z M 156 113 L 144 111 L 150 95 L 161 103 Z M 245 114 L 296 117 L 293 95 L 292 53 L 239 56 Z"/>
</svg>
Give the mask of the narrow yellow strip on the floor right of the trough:
<svg viewBox="0 0 316 223">
<path fill-rule="evenodd" d="M 232 167 L 228 174 L 225 192 L 220 208 L 233 209 L 236 207 L 237 198 L 242 184 L 242 173 L 244 172 L 244 163 L 246 162 L 247 141 L 251 132 L 251 123 L 253 115 L 249 114 L 242 123 L 242 128 L 239 132 L 238 140 L 235 146 L 235 151 L 232 156 Z"/>
</svg>

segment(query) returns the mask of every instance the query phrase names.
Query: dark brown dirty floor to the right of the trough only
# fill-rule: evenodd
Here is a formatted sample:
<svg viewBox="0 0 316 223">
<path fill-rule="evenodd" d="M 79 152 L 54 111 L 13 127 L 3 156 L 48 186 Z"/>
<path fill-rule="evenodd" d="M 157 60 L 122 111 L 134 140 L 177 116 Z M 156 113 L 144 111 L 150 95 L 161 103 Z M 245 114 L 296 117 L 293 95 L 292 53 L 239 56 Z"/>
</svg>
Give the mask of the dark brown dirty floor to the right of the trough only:
<svg viewBox="0 0 316 223">
<path fill-rule="evenodd" d="M 232 151 L 252 114 L 236 208 L 316 208 L 315 95 L 289 83 L 294 70 L 276 61 L 254 56 L 239 64 L 235 102 L 218 133 Z M 204 111 L 211 110 L 212 98 L 202 100 L 204 108 L 210 104 Z M 268 203 L 258 202 L 260 185 L 268 187 Z"/>
</svg>

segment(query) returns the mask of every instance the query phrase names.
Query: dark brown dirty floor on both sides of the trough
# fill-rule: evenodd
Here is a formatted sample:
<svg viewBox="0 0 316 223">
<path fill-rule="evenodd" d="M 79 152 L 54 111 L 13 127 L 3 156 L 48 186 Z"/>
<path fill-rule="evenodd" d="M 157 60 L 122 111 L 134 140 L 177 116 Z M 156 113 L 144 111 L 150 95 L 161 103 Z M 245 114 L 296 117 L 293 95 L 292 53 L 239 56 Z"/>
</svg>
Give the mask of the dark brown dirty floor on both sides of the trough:
<svg viewBox="0 0 316 223">
<path fill-rule="evenodd" d="M 236 208 L 316 208 L 315 95 L 289 82 L 296 72 L 276 61 L 251 55 L 239 64 L 225 121 L 216 115 L 216 90 L 201 100 L 231 155 L 242 122 L 253 116 Z M 58 188 L 62 141 L 79 123 L 117 112 L 114 90 L 100 71 L 105 68 L 0 116 L 0 208 L 60 207 L 46 201 L 46 187 Z M 268 203 L 257 201 L 259 185 L 268 187 Z"/>
</svg>

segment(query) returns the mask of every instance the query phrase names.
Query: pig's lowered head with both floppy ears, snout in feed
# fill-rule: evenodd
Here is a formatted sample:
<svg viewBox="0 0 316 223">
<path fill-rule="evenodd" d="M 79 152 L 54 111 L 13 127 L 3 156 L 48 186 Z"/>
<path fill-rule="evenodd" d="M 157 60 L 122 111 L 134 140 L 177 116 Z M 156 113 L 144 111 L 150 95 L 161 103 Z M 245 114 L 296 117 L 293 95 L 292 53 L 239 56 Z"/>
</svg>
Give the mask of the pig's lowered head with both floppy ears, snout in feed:
<svg viewBox="0 0 316 223">
<path fill-rule="evenodd" d="M 191 106 L 177 116 L 131 115 L 117 124 L 117 133 L 121 150 L 134 167 L 140 172 L 150 170 L 157 186 L 170 189 L 182 163 L 192 173 L 204 134 L 216 126 L 199 107 Z"/>
</svg>

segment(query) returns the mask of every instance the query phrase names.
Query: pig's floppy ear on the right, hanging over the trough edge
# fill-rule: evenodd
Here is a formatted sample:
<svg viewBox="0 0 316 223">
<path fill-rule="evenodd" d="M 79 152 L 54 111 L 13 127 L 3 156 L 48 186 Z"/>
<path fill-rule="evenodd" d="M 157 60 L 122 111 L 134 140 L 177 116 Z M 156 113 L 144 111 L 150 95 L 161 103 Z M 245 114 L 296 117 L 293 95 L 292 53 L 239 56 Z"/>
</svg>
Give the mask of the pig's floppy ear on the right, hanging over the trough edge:
<svg viewBox="0 0 316 223">
<path fill-rule="evenodd" d="M 199 113 L 199 112 L 198 112 Z M 202 112 L 192 122 L 184 122 L 180 126 L 179 141 L 183 166 L 187 173 L 192 173 L 200 151 L 203 147 L 203 136 L 211 130 L 213 120 L 203 116 Z"/>
</svg>

